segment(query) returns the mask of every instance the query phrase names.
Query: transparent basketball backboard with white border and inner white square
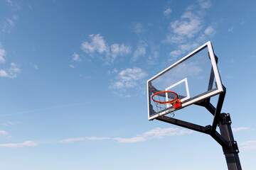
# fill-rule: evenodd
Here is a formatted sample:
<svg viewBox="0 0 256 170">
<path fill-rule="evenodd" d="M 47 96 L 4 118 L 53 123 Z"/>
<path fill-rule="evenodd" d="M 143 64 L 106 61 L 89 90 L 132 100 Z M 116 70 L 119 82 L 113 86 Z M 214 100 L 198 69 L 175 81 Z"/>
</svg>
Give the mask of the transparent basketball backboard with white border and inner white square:
<svg viewBox="0 0 256 170">
<path fill-rule="evenodd" d="M 149 120 L 222 93 L 223 86 L 211 42 L 206 42 L 149 79 L 147 91 Z M 156 103 L 151 99 L 151 96 L 159 91 L 176 92 L 181 99 L 181 108 L 174 109 L 171 104 L 166 104 L 164 110 L 159 111 Z M 162 93 L 154 97 L 170 101 L 176 96 Z"/>
</svg>

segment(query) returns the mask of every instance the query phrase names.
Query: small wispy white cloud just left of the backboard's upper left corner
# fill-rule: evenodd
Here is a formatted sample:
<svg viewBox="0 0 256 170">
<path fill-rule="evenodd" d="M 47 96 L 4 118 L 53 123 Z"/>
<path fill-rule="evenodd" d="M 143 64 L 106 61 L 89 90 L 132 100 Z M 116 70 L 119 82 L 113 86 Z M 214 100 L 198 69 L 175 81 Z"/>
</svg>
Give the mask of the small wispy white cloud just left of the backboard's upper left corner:
<svg viewBox="0 0 256 170">
<path fill-rule="evenodd" d="M 137 86 L 137 81 L 143 79 L 146 75 L 146 72 L 137 67 L 124 69 L 117 74 L 116 81 L 110 86 L 110 89 L 125 89 Z"/>
</svg>

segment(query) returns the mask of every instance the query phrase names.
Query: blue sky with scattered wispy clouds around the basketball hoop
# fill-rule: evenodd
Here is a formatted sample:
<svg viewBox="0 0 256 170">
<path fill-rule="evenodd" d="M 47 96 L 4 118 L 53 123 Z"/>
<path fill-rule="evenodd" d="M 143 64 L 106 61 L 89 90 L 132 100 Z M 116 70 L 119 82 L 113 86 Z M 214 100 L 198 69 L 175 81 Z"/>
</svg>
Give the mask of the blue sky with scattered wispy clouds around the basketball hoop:
<svg viewBox="0 0 256 170">
<path fill-rule="evenodd" d="M 208 40 L 255 169 L 255 5 L 1 0 L 1 169 L 227 169 L 210 136 L 147 120 L 146 80 Z"/>
</svg>

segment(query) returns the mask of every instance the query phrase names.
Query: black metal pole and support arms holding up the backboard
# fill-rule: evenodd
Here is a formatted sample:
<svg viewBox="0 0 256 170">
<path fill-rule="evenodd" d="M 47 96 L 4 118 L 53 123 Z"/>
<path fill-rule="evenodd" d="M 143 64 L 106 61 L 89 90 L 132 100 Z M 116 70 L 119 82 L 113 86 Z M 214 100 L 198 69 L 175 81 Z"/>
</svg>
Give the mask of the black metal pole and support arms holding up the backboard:
<svg viewBox="0 0 256 170">
<path fill-rule="evenodd" d="M 198 106 L 205 107 L 214 116 L 212 125 L 207 125 L 204 127 L 201 125 L 188 123 L 183 120 L 178 120 L 176 118 L 170 118 L 166 115 L 162 115 L 156 118 L 156 120 L 161 120 L 166 123 L 171 123 L 173 125 L 178 125 L 183 128 L 196 130 L 197 132 L 203 132 L 205 134 L 210 135 L 223 148 L 223 154 L 225 155 L 228 170 L 242 170 L 240 159 L 238 157 L 238 144 L 234 140 L 233 132 L 230 126 L 230 114 L 221 113 L 221 109 L 225 98 L 225 91 L 225 86 L 223 86 L 223 93 L 219 94 L 216 108 L 210 103 L 210 98 L 195 103 Z M 220 134 L 216 131 L 217 126 L 220 128 Z"/>
</svg>

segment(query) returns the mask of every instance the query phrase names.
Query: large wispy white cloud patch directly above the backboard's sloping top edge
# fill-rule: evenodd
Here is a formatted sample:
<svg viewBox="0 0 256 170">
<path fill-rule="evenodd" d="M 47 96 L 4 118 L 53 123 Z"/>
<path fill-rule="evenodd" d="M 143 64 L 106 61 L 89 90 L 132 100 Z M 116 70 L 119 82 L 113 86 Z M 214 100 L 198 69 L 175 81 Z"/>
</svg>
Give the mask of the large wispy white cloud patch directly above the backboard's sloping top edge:
<svg viewBox="0 0 256 170">
<path fill-rule="evenodd" d="M 176 49 L 169 53 L 171 57 L 169 60 L 176 60 L 179 55 L 196 49 L 215 34 L 215 24 L 205 26 L 203 21 L 204 10 L 210 8 L 211 2 L 200 0 L 198 4 L 201 8 L 189 6 L 180 18 L 170 23 L 166 42 L 174 43 Z"/>
</svg>

